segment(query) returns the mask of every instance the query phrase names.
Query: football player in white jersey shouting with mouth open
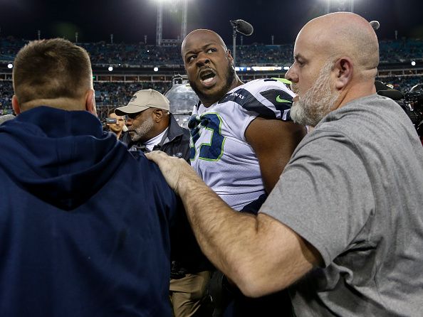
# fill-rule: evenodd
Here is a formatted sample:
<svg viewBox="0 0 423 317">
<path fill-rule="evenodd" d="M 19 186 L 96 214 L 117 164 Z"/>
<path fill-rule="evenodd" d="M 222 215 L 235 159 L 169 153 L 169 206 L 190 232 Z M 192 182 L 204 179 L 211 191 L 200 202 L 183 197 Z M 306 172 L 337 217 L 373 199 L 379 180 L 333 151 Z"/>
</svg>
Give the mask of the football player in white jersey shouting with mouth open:
<svg viewBox="0 0 423 317">
<path fill-rule="evenodd" d="M 182 58 L 199 97 L 189 121 L 191 164 L 231 208 L 256 213 L 306 133 L 288 122 L 294 94 L 284 80 L 241 82 L 230 51 L 214 31 L 189 33 Z M 268 316 L 273 302 L 281 306 L 281 299 L 238 295 L 234 315 Z"/>
</svg>

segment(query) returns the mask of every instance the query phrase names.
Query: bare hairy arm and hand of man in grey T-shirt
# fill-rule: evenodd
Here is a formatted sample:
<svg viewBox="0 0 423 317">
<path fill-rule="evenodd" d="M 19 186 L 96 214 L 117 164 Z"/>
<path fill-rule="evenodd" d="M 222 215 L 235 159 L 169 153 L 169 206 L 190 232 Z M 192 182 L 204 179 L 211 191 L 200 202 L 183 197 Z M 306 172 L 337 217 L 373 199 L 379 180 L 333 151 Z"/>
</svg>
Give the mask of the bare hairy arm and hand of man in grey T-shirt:
<svg viewBox="0 0 423 317">
<path fill-rule="evenodd" d="M 283 289 L 320 261 L 313 247 L 273 217 L 232 210 L 182 159 L 160 151 L 146 156 L 182 198 L 204 254 L 246 296 Z"/>
</svg>

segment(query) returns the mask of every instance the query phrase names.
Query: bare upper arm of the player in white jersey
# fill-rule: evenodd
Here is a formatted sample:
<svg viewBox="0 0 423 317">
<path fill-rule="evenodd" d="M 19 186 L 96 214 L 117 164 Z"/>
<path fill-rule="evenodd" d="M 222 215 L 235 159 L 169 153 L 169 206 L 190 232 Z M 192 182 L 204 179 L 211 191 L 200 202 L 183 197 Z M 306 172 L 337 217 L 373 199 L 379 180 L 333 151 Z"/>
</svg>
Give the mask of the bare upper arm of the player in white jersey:
<svg viewBox="0 0 423 317">
<path fill-rule="evenodd" d="M 245 131 L 246 141 L 256 153 L 264 188 L 270 193 L 291 158 L 293 150 L 305 136 L 305 127 L 293 122 L 257 117 Z"/>
</svg>

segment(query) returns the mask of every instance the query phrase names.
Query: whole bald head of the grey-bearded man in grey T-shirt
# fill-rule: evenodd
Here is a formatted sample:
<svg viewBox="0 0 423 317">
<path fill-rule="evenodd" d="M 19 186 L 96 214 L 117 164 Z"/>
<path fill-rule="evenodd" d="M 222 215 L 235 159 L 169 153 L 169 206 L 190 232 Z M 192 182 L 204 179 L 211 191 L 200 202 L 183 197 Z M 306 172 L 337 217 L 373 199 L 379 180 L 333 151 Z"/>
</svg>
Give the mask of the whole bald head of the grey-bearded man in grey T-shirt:
<svg viewBox="0 0 423 317">
<path fill-rule="evenodd" d="M 298 100 L 295 122 L 315 127 L 326 114 L 375 93 L 379 44 L 361 16 L 337 12 L 314 18 L 301 29 L 294 63 L 285 77 Z"/>
</svg>

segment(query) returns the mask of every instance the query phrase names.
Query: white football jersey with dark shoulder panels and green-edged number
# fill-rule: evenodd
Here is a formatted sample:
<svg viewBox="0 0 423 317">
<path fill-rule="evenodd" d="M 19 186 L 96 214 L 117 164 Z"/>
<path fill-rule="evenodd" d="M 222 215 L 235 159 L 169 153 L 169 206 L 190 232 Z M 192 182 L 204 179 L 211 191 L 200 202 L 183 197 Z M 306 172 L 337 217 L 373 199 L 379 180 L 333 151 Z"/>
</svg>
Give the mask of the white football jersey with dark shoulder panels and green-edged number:
<svg viewBox="0 0 423 317">
<path fill-rule="evenodd" d="M 191 165 L 235 210 L 265 193 L 258 159 L 244 134 L 258 116 L 290 119 L 294 94 L 283 82 L 253 80 L 235 87 L 208 108 L 197 104 L 192 112 Z"/>
</svg>

